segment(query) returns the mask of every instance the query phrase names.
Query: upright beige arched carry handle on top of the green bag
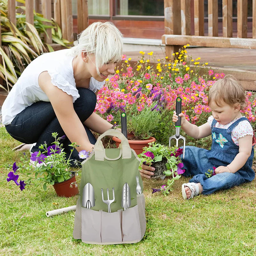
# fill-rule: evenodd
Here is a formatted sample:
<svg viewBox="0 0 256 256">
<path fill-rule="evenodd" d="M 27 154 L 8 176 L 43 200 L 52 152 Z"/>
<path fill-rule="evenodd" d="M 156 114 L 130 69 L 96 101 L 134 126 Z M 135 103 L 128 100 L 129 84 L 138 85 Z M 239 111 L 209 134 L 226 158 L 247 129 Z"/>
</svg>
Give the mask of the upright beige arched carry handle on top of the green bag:
<svg viewBox="0 0 256 256">
<path fill-rule="evenodd" d="M 121 148 L 120 156 L 122 154 L 122 159 L 132 158 L 132 150 L 131 150 L 129 142 L 128 142 L 127 138 L 124 136 L 124 134 L 118 130 L 109 129 L 99 136 L 99 138 L 97 139 L 97 141 L 94 145 L 95 160 L 104 161 L 104 158 L 106 158 L 108 160 L 114 160 L 114 159 L 109 159 L 105 155 L 104 146 L 101 141 L 101 139 L 107 135 L 116 136 L 117 138 L 119 138 L 121 140 L 121 144 L 119 145 L 119 147 Z M 117 157 L 116 159 L 118 159 L 119 157 Z"/>
</svg>

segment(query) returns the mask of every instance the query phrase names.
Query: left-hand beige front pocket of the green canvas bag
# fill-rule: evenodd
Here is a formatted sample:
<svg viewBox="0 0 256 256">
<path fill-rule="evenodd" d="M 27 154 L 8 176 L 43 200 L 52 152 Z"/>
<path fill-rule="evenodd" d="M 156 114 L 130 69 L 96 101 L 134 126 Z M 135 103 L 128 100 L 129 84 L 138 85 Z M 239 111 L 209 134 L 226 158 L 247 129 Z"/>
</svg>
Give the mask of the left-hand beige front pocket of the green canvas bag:
<svg viewBox="0 0 256 256">
<path fill-rule="evenodd" d="M 82 210 L 82 242 L 101 243 L 101 212 L 81 207 Z"/>
</svg>

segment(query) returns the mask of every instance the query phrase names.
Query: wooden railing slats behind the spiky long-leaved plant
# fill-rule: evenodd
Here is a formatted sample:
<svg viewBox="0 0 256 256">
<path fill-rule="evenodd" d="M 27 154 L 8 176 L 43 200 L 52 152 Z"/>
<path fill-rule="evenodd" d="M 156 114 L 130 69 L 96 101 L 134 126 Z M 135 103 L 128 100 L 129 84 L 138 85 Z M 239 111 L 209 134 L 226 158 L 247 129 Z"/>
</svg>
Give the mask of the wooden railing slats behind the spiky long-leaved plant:
<svg viewBox="0 0 256 256">
<path fill-rule="evenodd" d="M 26 21 L 34 24 L 33 10 L 39 12 L 40 0 L 26 0 Z M 42 14 L 44 18 L 52 19 L 52 0 L 41 0 Z M 16 1 L 8 0 L 8 18 L 16 26 Z M 62 37 L 70 42 L 74 41 L 72 0 L 53 0 L 54 20 L 62 30 Z M 78 33 L 88 27 L 88 6 L 87 0 L 77 0 L 77 28 Z M 49 37 L 45 35 L 44 40 L 47 44 L 52 44 L 51 28 L 46 29 Z"/>
</svg>

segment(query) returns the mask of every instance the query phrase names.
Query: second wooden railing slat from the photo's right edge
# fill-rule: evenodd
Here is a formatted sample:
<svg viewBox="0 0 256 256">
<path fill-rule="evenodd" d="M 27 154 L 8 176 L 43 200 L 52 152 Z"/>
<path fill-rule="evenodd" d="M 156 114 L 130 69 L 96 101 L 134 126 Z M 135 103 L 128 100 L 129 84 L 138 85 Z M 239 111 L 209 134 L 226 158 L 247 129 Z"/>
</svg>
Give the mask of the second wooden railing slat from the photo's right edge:
<svg viewBox="0 0 256 256">
<path fill-rule="evenodd" d="M 248 0 L 237 0 L 237 37 L 247 38 Z"/>
</svg>

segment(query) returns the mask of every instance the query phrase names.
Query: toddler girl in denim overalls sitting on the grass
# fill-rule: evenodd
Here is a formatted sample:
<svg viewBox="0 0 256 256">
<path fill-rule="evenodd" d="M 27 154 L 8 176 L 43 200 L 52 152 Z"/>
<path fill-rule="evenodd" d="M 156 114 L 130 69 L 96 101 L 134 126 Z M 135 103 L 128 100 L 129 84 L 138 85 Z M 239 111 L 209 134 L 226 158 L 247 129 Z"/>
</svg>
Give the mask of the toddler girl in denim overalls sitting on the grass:
<svg viewBox="0 0 256 256">
<path fill-rule="evenodd" d="M 233 76 L 225 76 L 212 85 L 208 105 L 212 116 L 199 127 L 190 124 L 183 113 L 179 115 L 181 128 L 188 136 L 200 139 L 212 134 L 210 150 L 188 146 L 185 158 L 181 157 L 185 169 L 182 175 L 193 176 L 189 183 L 182 184 L 184 199 L 232 188 L 255 177 L 252 159 L 256 139 L 250 121 L 240 113 L 247 106 L 244 87 Z M 172 121 L 177 120 L 174 111 Z M 207 178 L 205 172 L 213 167 L 216 175 Z"/>
</svg>

